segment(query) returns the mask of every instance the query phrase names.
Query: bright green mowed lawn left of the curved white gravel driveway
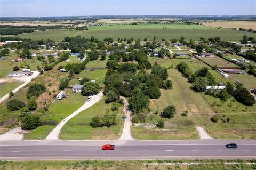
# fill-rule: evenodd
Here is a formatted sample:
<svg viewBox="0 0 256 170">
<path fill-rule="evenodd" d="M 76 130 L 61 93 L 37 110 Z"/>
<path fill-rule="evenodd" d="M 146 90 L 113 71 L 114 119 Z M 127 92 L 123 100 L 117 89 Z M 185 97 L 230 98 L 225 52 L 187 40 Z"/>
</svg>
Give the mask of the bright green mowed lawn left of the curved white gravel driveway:
<svg viewBox="0 0 256 170">
<path fill-rule="evenodd" d="M 46 114 L 42 115 L 43 122 L 52 121 L 55 123 L 59 123 L 62 119 L 76 111 L 79 107 L 81 107 L 85 101 L 86 96 L 82 96 L 80 93 L 74 93 L 71 89 L 65 91 L 68 94 L 68 98 L 64 98 L 63 100 L 55 100 L 50 106 L 49 111 Z M 55 128 L 55 126 L 51 125 L 43 125 L 37 127 L 33 131 L 29 131 L 29 133 L 25 134 L 25 139 L 44 139 L 51 131 Z"/>
</svg>

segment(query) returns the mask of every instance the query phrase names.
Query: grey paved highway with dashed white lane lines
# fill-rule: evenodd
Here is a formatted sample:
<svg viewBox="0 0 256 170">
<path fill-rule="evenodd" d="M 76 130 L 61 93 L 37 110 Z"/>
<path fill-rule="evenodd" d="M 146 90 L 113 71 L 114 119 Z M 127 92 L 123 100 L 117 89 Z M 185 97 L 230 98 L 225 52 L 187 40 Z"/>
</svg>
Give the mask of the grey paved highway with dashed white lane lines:
<svg viewBox="0 0 256 170">
<path fill-rule="evenodd" d="M 237 143 L 237 149 L 227 149 Z M 115 144 L 115 150 L 101 150 Z M 1 160 L 256 159 L 255 140 L 1 141 Z"/>
</svg>

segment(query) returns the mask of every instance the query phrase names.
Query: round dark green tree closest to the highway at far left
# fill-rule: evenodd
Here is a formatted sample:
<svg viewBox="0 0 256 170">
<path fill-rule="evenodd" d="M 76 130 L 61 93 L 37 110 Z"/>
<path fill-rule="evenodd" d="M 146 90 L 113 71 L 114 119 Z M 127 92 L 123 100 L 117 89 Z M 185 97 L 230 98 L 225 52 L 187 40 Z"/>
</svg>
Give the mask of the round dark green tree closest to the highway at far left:
<svg viewBox="0 0 256 170">
<path fill-rule="evenodd" d="M 41 125 L 41 120 L 38 115 L 30 114 L 24 117 L 21 121 L 21 128 L 23 130 L 33 130 Z"/>
</svg>

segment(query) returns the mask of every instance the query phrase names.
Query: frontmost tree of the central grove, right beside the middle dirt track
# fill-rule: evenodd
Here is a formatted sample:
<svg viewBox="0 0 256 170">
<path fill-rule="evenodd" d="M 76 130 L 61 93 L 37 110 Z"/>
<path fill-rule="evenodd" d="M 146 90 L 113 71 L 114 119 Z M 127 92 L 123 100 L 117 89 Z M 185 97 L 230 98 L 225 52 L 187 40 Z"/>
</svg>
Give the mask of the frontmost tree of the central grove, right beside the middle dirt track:
<svg viewBox="0 0 256 170">
<path fill-rule="evenodd" d="M 149 97 L 143 94 L 140 90 L 132 95 L 129 99 L 129 108 L 133 112 L 139 112 L 144 108 L 148 107 Z"/>
</svg>

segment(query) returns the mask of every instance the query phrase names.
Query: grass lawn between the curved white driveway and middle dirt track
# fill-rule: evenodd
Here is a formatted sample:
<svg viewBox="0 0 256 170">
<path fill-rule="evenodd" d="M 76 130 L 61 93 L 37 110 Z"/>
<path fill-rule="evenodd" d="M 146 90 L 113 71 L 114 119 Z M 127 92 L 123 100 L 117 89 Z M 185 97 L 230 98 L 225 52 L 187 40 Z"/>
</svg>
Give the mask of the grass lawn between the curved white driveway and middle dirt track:
<svg viewBox="0 0 256 170">
<path fill-rule="evenodd" d="M 116 125 L 111 127 L 97 127 L 92 128 L 90 126 L 91 119 L 95 115 L 103 117 L 106 111 L 111 108 L 111 103 L 105 103 L 105 96 L 92 107 L 82 111 L 76 115 L 73 119 L 69 120 L 67 124 L 61 129 L 60 139 L 61 140 L 114 140 L 119 139 L 122 129 L 123 122 L 123 106 L 121 105 L 118 109 L 116 116 Z M 111 110 L 110 110 L 111 113 Z"/>
</svg>

